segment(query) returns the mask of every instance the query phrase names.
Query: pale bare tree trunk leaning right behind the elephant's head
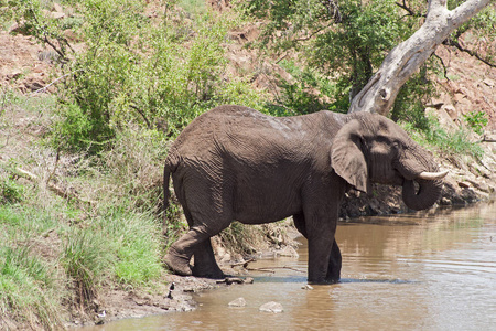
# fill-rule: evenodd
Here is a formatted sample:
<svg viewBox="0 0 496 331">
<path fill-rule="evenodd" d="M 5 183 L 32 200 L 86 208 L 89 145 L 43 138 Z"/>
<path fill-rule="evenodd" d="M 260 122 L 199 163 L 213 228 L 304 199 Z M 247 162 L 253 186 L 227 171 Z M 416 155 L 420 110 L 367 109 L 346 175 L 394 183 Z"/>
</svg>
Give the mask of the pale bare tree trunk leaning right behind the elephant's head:
<svg viewBox="0 0 496 331">
<path fill-rule="evenodd" d="M 435 47 L 490 1 L 467 0 L 448 10 L 446 0 L 429 0 L 423 25 L 386 56 L 377 73 L 353 98 L 348 113 L 387 115 L 401 86 L 431 56 Z"/>
</svg>

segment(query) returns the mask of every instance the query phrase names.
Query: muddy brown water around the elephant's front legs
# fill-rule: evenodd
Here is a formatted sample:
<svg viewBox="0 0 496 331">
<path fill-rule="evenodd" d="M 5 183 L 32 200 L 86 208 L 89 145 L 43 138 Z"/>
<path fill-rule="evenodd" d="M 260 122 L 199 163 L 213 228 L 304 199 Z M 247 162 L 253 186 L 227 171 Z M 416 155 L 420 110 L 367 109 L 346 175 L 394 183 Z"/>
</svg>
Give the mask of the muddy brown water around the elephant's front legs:
<svg viewBox="0 0 496 331">
<path fill-rule="evenodd" d="M 94 330 L 496 330 L 496 203 L 339 224 L 341 284 L 306 284 L 299 258 L 250 264 L 254 285 L 200 293 L 196 311 Z M 228 302 L 244 297 L 245 308 Z M 260 312 L 268 301 L 284 312 Z"/>
</svg>

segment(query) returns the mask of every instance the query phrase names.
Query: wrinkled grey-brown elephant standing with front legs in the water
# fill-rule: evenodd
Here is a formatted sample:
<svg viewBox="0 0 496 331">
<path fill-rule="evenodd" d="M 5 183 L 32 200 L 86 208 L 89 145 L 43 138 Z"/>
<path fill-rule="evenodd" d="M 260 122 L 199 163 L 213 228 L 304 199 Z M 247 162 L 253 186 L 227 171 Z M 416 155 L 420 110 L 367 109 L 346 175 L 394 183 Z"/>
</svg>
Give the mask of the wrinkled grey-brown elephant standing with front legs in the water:
<svg viewBox="0 0 496 331">
<path fill-rule="evenodd" d="M 170 149 L 164 168 L 190 224 L 165 256 L 179 275 L 223 277 L 209 238 L 233 221 L 261 224 L 293 216 L 309 242 L 309 282 L 335 282 L 341 252 L 334 239 L 345 192 L 370 192 L 370 182 L 402 185 L 412 210 L 440 197 L 432 156 L 395 122 L 375 114 L 320 111 L 270 117 L 220 106 L 193 120 Z M 194 266 L 190 260 L 194 255 Z"/>
</svg>

